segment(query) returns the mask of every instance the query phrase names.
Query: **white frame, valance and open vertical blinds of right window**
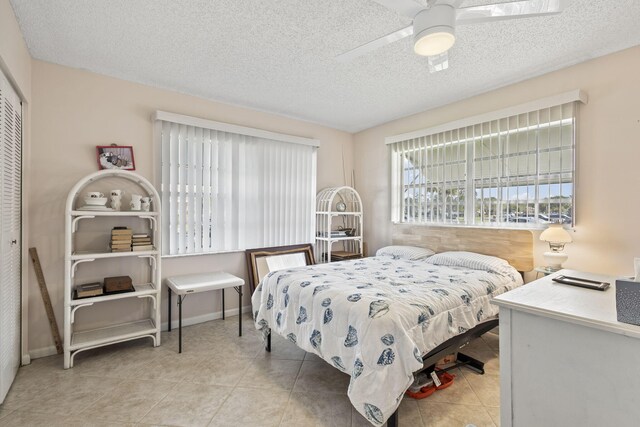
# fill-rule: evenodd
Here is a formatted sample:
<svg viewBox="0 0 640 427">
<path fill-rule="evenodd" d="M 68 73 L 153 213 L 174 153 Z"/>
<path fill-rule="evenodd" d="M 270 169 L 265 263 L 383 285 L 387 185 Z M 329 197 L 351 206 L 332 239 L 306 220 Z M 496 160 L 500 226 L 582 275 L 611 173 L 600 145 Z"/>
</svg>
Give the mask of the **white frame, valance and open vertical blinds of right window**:
<svg viewBox="0 0 640 427">
<path fill-rule="evenodd" d="M 538 192 L 539 189 L 539 185 L 540 185 L 540 177 L 539 177 L 539 169 L 538 169 L 538 159 L 540 156 L 540 153 L 542 152 L 553 152 L 554 150 L 551 149 L 551 147 L 546 147 L 545 149 L 541 149 L 541 147 L 536 146 L 534 151 L 529 150 L 527 151 L 517 151 L 514 152 L 513 155 L 507 156 L 505 155 L 505 153 L 502 151 L 503 145 L 506 145 L 507 143 L 510 143 L 509 139 L 507 139 L 506 141 L 503 141 L 502 138 L 503 136 L 498 133 L 497 134 L 497 141 L 498 141 L 498 149 L 499 149 L 499 154 L 495 154 L 493 156 L 489 156 L 489 157 L 495 157 L 496 158 L 496 163 L 498 165 L 499 168 L 504 167 L 503 165 L 505 164 L 506 161 L 508 161 L 508 158 L 510 157 L 518 157 L 518 156 L 522 156 L 522 155 L 527 155 L 527 156 L 531 156 L 531 155 L 535 155 L 536 156 L 536 174 L 533 175 L 531 173 L 526 174 L 527 176 L 525 176 L 525 174 L 523 174 L 523 178 L 526 181 L 531 181 L 529 184 L 516 184 L 516 185 L 505 185 L 502 181 L 503 176 L 501 172 L 496 172 L 494 173 L 495 176 L 491 175 L 489 178 L 484 178 L 483 176 L 478 177 L 477 176 L 477 171 L 476 171 L 476 163 L 478 162 L 478 160 L 482 161 L 485 159 L 485 157 L 483 157 L 482 155 L 478 155 L 475 151 L 476 151 L 476 145 L 477 145 L 477 141 L 482 141 L 484 138 L 487 138 L 487 136 L 489 137 L 493 137 L 493 130 L 487 132 L 486 130 L 482 130 L 478 135 L 476 135 L 475 133 L 472 134 L 472 136 L 468 137 L 467 135 L 467 131 L 469 129 L 475 129 L 474 127 L 476 126 L 481 126 L 485 123 L 493 123 L 493 122 L 498 122 L 500 123 L 501 120 L 511 120 L 513 117 L 517 117 L 519 120 L 519 117 L 521 115 L 529 115 L 532 113 L 536 113 L 536 112 L 540 112 L 541 110 L 545 110 L 545 109 L 551 109 L 551 108 L 563 108 L 566 104 L 574 104 L 572 106 L 573 110 L 571 111 L 571 119 L 572 122 L 570 123 L 570 125 L 572 126 L 572 134 L 570 135 L 571 138 L 571 143 L 569 145 L 569 148 L 572 151 L 572 158 L 571 158 L 571 197 L 572 197 L 572 205 L 571 205 L 571 223 L 568 224 L 569 226 L 574 226 L 576 223 L 576 195 L 575 195 L 575 189 L 576 189 L 576 179 L 577 179 L 577 173 L 576 173 L 576 151 L 577 151 L 577 120 L 578 120 L 578 105 L 579 103 L 584 103 L 586 104 L 588 102 L 588 96 L 585 92 L 581 91 L 581 90 L 573 90 L 573 91 L 569 91 L 569 92 L 565 92 L 556 96 L 552 96 L 552 97 L 548 97 L 548 98 L 543 98 L 540 100 L 536 100 L 536 101 L 532 101 L 532 102 L 528 102 L 525 104 L 521 104 L 518 106 L 514 106 L 514 107 L 509 107 L 509 108 L 505 108 L 502 110 L 498 110 L 498 111 L 493 111 L 493 112 L 488 112 L 485 114 L 481 114 L 481 115 L 477 115 L 477 116 L 473 116 L 473 117 L 468 117 L 465 119 L 461 119 L 461 120 L 456 120 L 450 123 L 445 123 L 439 126 L 435 126 L 432 128 L 428 128 L 428 129 L 422 129 L 422 130 L 418 130 L 415 132 L 410 132 L 410 133 L 405 133 L 405 134 L 400 134 L 400 135 L 395 135 L 395 136 L 390 136 L 387 137 L 385 139 L 386 144 L 390 147 L 389 152 L 390 152 L 390 157 L 391 157 L 391 168 L 390 168 L 390 172 L 391 172 L 391 203 L 390 203 L 390 208 L 391 208 L 391 218 L 392 218 L 392 222 L 393 223 L 402 223 L 402 224 L 418 224 L 418 225 L 438 225 L 438 226 L 455 226 L 455 227 L 483 227 L 483 228 L 527 228 L 527 229 L 541 229 L 545 227 L 544 222 L 542 222 L 542 219 L 539 217 L 538 213 L 539 213 L 539 205 L 541 203 L 541 199 L 540 199 L 540 195 Z M 562 110 L 561 110 L 562 113 Z M 565 126 L 566 124 L 562 123 L 565 118 L 564 115 L 561 115 L 560 118 L 561 122 L 558 125 L 558 128 L 561 129 L 563 126 Z M 542 123 L 542 122 L 538 122 L 538 125 Z M 553 123 L 553 120 L 551 118 L 549 118 L 547 121 L 545 121 L 544 123 L 549 123 L 549 128 L 551 129 L 551 124 Z M 528 126 L 528 125 L 527 125 Z M 520 125 L 518 122 L 518 126 L 517 129 L 520 129 Z M 529 132 L 532 129 L 527 129 L 522 131 L 523 134 L 526 134 L 525 132 Z M 538 129 L 539 130 L 539 129 Z M 461 137 L 460 132 L 465 132 L 464 137 Z M 518 132 L 520 132 L 518 130 Z M 448 133 L 448 134 L 447 134 Z M 452 135 L 456 134 L 456 137 L 454 138 Z M 430 145 L 426 144 L 426 140 L 421 140 L 421 138 L 432 138 L 432 137 L 440 137 L 441 135 L 445 135 L 445 136 L 449 136 L 449 140 L 450 141 L 454 141 L 453 144 L 456 144 L 455 141 L 458 141 L 458 145 L 463 145 L 466 147 L 466 150 L 464 151 L 464 155 L 460 156 L 460 150 L 458 151 L 458 157 L 455 158 L 453 161 L 447 161 L 446 159 L 442 162 L 442 163 L 435 163 L 435 166 L 433 166 L 434 164 L 431 163 L 429 164 L 428 159 L 422 160 L 419 159 L 418 162 L 415 162 L 416 158 L 424 158 L 429 156 L 428 152 L 432 149 L 432 147 L 434 147 L 434 145 L 432 144 L 432 140 L 430 139 L 429 141 L 431 142 Z M 562 134 L 561 134 L 562 135 Z M 420 140 L 421 143 L 418 143 L 416 145 L 416 141 Z M 441 143 L 440 140 L 438 140 L 438 143 L 436 144 L 436 146 L 438 147 L 446 147 L 446 139 L 443 140 L 443 142 Z M 459 141 L 464 141 L 464 142 L 459 142 Z M 413 144 L 413 147 L 411 147 L 411 144 Z M 442 145 L 441 145 L 442 144 Z M 398 148 L 399 147 L 399 148 Z M 555 151 L 562 151 L 565 150 L 566 146 L 564 145 L 560 145 L 559 147 L 557 147 L 555 149 Z M 465 195 L 470 195 L 471 197 L 465 197 L 464 203 L 460 204 L 458 203 L 457 206 L 453 205 L 454 208 L 460 208 L 462 207 L 464 209 L 464 213 L 468 213 L 468 212 L 473 212 L 472 218 L 470 219 L 470 217 L 468 217 L 467 215 L 465 215 L 464 218 L 464 222 L 452 222 L 452 221 L 447 221 L 447 219 L 445 218 L 445 216 L 447 215 L 447 212 L 449 210 L 446 209 L 446 205 L 440 204 L 438 203 L 438 205 L 436 206 L 438 210 L 440 210 L 440 207 L 445 209 L 445 212 L 442 214 L 437 214 L 437 218 L 434 219 L 433 214 L 430 215 L 430 217 L 427 217 L 427 215 L 423 212 L 418 212 L 418 215 L 416 216 L 415 214 L 410 214 L 408 215 L 405 212 L 405 201 L 406 201 L 406 189 L 408 188 L 407 186 L 405 186 L 405 182 L 404 182 L 404 177 L 407 176 L 406 174 L 406 170 L 404 169 L 404 165 L 405 162 L 409 161 L 408 158 L 405 157 L 405 154 L 408 151 L 411 150 L 424 150 L 425 154 L 424 155 L 420 155 L 420 156 L 415 156 L 414 157 L 414 163 L 416 164 L 416 166 L 414 166 L 415 169 L 418 169 L 420 171 L 421 176 L 423 177 L 427 177 L 427 167 L 430 167 L 431 169 L 433 169 L 434 167 L 441 167 L 442 169 L 442 178 L 438 179 L 435 182 L 434 186 L 430 186 L 429 185 L 429 181 L 427 181 L 426 179 L 421 179 L 421 181 L 424 180 L 424 184 L 421 184 L 421 186 L 424 188 L 425 191 L 429 191 L 430 188 L 436 187 L 438 189 L 440 189 L 440 192 L 442 192 L 442 189 L 444 188 L 445 192 L 448 192 L 448 187 L 451 187 L 453 184 L 457 184 L 456 188 L 460 188 L 463 189 L 465 192 Z M 425 165 L 423 165 L 423 161 L 425 162 Z M 464 172 L 464 178 L 462 180 L 460 180 L 459 178 L 456 180 L 455 178 L 451 181 L 448 181 L 447 178 L 445 177 L 445 169 L 446 169 L 446 165 L 448 163 L 465 163 L 466 164 L 466 170 Z M 429 165 L 429 166 L 426 166 Z M 480 169 L 481 170 L 481 169 Z M 548 172 L 550 175 L 553 174 L 553 172 L 549 171 Z M 559 176 L 559 178 L 562 178 L 563 172 L 562 172 L 562 168 L 560 167 L 560 172 L 557 173 L 557 175 Z M 415 175 L 414 175 L 415 176 Z M 460 176 L 460 172 L 458 172 L 457 177 Z M 536 178 L 532 178 L 533 176 L 535 176 Z M 508 176 L 510 178 L 510 176 Z M 491 182 L 489 183 L 490 185 L 487 186 L 483 186 L 483 181 L 485 179 L 496 179 L 496 184 L 494 185 L 495 188 L 491 187 Z M 533 180 L 532 180 L 533 179 Z M 461 186 L 462 184 L 462 186 Z M 562 181 L 558 182 L 559 185 L 566 185 L 568 183 L 563 183 Z M 551 184 L 549 184 L 551 185 Z M 499 193 L 503 193 L 504 191 L 510 191 L 510 189 L 512 188 L 516 188 L 516 191 L 518 188 L 520 187 L 530 187 L 533 186 L 533 190 L 535 193 L 535 197 L 533 199 L 533 201 L 529 198 L 527 198 L 524 202 L 520 202 L 520 198 L 518 197 L 515 200 L 516 206 L 520 203 L 524 203 L 525 205 L 527 205 L 527 209 L 528 206 L 533 204 L 534 205 L 534 209 L 535 209 L 535 220 L 536 222 L 527 222 L 524 224 L 521 224 L 520 222 L 509 222 L 509 221 L 505 221 L 500 220 L 497 222 L 489 222 L 490 220 L 482 220 L 481 222 L 477 222 L 476 221 L 476 216 L 477 216 L 477 210 L 478 210 L 478 201 L 484 202 L 485 199 L 484 197 L 480 198 L 478 200 L 477 198 L 477 194 L 478 191 L 491 191 L 492 189 L 496 191 L 497 193 L 497 207 L 501 208 L 502 203 L 506 203 L 507 205 L 511 205 L 512 202 L 507 200 L 506 202 L 500 202 L 501 197 L 499 197 Z M 453 188 L 453 187 L 452 187 Z M 529 189 L 527 189 L 527 191 L 529 191 Z M 422 197 L 422 193 L 419 193 L 419 197 Z M 413 197 L 413 196 L 411 196 Z M 548 196 L 551 197 L 551 196 Z M 424 200 L 424 199 L 422 199 Z M 559 202 L 560 205 L 562 204 L 562 201 Z M 421 211 L 427 211 L 427 212 L 433 212 L 434 207 L 429 206 L 429 203 L 419 203 L 419 207 L 418 209 L 420 209 Z M 551 205 L 549 205 L 551 206 Z M 408 208 L 407 208 L 408 209 Z M 454 209 L 450 209 L 450 211 L 453 211 Z M 500 209 L 498 210 L 498 212 L 500 212 L 500 214 L 503 213 L 503 211 Z M 508 212 L 508 208 L 507 208 L 507 212 Z M 482 215 L 482 214 L 481 214 Z M 559 215 L 562 215 L 562 213 L 560 213 Z M 407 220 L 407 218 L 414 218 L 413 220 Z M 529 218 L 530 216 L 527 215 L 523 218 Z M 487 222 L 484 222 L 487 221 Z M 519 218 L 516 216 L 516 221 L 519 221 Z"/>
</svg>

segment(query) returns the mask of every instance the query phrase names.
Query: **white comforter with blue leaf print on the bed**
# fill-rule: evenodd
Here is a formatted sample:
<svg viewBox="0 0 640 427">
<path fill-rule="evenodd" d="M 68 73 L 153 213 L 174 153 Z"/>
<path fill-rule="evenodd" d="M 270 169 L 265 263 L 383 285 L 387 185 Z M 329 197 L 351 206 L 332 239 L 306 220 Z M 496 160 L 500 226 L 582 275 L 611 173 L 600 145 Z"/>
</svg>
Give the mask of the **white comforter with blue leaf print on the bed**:
<svg viewBox="0 0 640 427">
<path fill-rule="evenodd" d="M 422 356 L 495 317 L 491 298 L 520 284 L 507 264 L 485 271 L 371 257 L 271 272 L 252 305 L 256 328 L 349 374 L 351 403 L 382 425 Z"/>
</svg>

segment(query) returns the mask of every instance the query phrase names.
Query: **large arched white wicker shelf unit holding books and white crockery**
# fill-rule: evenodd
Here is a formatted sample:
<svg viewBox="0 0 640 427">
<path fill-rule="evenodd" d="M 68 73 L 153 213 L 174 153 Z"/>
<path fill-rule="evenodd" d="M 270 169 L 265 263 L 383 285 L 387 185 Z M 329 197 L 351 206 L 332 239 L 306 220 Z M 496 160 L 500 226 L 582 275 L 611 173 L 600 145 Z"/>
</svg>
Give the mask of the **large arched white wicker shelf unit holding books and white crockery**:
<svg viewBox="0 0 640 427">
<path fill-rule="evenodd" d="M 99 181 L 124 182 L 139 189 L 145 196 L 153 200 L 154 211 L 85 211 L 77 210 L 81 204 L 83 191 L 88 186 L 99 185 Z M 161 215 L 159 212 L 160 197 L 151 183 L 144 177 L 130 171 L 102 170 L 92 173 L 81 179 L 69 192 L 66 203 L 65 215 L 65 277 L 64 277 L 64 368 L 73 367 L 76 354 L 81 351 L 96 347 L 115 344 L 123 341 L 150 337 L 154 346 L 160 345 L 160 283 L 161 283 Z M 123 206 L 124 209 L 124 206 Z M 100 228 L 104 224 L 104 235 L 110 236 L 111 228 L 105 221 L 113 220 L 138 220 L 147 224 L 148 233 L 152 238 L 154 250 L 139 252 L 108 252 L 108 248 L 101 251 L 81 251 L 76 247 L 79 233 L 79 225 L 85 221 L 96 222 Z M 143 221 L 140 221 L 143 220 Z M 102 230 L 100 230 L 102 232 Z M 102 233 L 101 233 L 102 234 Z M 138 258 L 149 265 L 148 283 L 134 283 L 134 292 L 100 295 L 91 298 L 74 299 L 76 274 L 79 268 L 94 262 L 111 262 L 109 268 L 113 268 L 113 275 L 128 275 L 122 271 L 119 264 L 125 258 Z M 76 312 L 79 309 L 91 309 L 97 304 L 122 301 L 130 298 L 148 299 L 145 305 L 144 319 L 132 321 L 117 321 L 114 319 L 107 325 L 96 328 L 76 328 Z"/>
</svg>

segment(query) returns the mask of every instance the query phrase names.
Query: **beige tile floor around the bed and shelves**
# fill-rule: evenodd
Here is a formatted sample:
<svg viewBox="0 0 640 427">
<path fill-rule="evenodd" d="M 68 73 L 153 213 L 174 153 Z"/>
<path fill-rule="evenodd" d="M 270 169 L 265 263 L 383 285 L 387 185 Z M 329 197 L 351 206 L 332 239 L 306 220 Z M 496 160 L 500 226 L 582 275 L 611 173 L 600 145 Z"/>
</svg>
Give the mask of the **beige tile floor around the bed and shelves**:
<svg viewBox="0 0 640 427">
<path fill-rule="evenodd" d="M 0 426 L 370 426 L 347 398 L 349 377 L 315 355 L 273 337 L 263 349 L 250 318 L 237 318 L 81 353 L 73 369 L 62 357 L 20 368 L 0 405 Z M 498 336 L 472 342 L 467 354 L 485 375 L 456 371 L 448 389 L 405 398 L 401 427 L 499 426 Z"/>
</svg>

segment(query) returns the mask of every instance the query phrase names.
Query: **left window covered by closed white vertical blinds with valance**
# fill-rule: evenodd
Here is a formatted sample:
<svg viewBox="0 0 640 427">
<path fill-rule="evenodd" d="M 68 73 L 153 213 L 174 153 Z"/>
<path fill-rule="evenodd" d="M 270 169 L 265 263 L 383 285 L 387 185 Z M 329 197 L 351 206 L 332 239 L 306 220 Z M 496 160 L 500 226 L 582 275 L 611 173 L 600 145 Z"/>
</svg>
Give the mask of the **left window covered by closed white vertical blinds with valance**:
<svg viewBox="0 0 640 427">
<path fill-rule="evenodd" d="M 318 142 L 157 112 L 165 254 L 313 242 Z"/>
</svg>

